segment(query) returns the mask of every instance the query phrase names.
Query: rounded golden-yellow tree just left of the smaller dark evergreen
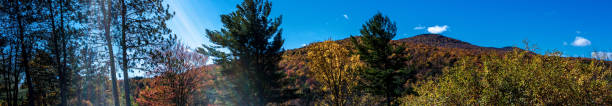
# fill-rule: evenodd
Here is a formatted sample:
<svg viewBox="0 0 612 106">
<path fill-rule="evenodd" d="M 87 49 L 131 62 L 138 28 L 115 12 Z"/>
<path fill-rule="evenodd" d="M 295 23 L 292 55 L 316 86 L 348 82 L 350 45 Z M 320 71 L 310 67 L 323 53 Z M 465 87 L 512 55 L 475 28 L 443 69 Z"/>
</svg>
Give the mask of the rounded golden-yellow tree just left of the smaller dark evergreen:
<svg viewBox="0 0 612 106">
<path fill-rule="evenodd" d="M 363 63 L 359 56 L 351 55 L 345 47 L 325 41 L 308 47 L 309 76 L 319 84 L 329 104 L 345 105 L 359 83 L 359 69 Z"/>
</svg>

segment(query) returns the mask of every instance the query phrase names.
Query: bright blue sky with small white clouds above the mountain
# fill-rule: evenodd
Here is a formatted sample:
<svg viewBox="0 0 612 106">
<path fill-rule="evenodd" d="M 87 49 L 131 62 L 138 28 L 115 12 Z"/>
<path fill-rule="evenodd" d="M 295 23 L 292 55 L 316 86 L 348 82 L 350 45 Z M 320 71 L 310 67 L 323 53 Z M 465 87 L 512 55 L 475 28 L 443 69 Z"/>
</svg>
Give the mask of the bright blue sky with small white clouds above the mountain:
<svg viewBox="0 0 612 106">
<path fill-rule="evenodd" d="M 170 27 L 192 48 L 209 44 L 204 30 L 218 30 L 219 15 L 242 0 L 171 0 Z M 284 48 L 358 35 L 377 12 L 397 22 L 396 39 L 424 33 L 485 47 L 523 47 L 565 56 L 612 55 L 609 0 L 271 0 L 272 16 L 283 15 Z M 436 27 L 437 26 L 437 27 Z M 601 51 L 592 53 L 593 51 Z"/>
</svg>

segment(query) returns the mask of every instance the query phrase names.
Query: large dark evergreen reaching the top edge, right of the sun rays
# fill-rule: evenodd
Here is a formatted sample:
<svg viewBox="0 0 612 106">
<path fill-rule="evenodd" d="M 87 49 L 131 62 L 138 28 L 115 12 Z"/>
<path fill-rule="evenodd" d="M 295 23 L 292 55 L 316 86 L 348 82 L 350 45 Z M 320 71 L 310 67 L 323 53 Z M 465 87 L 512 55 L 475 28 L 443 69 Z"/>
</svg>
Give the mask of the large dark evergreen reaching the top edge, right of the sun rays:
<svg viewBox="0 0 612 106">
<path fill-rule="evenodd" d="M 215 56 L 215 62 L 232 68 L 226 70 L 237 77 L 238 93 L 244 105 L 265 105 L 288 98 L 291 90 L 282 89 L 284 73 L 277 66 L 281 59 L 281 17 L 270 19 L 272 4 L 264 0 L 245 0 L 238 10 L 221 15 L 221 30 L 206 30 L 207 37 L 218 46 L 199 48 L 199 52 Z M 218 48 L 229 49 L 229 54 Z M 291 92 L 291 93 L 287 93 Z"/>
</svg>

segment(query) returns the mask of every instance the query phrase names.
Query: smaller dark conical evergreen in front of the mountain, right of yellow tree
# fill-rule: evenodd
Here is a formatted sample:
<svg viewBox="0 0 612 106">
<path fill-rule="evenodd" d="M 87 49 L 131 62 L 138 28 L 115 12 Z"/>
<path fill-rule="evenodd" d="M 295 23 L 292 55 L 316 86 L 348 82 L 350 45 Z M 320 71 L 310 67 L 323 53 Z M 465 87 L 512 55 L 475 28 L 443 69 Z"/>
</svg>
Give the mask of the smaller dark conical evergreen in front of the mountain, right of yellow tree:
<svg viewBox="0 0 612 106">
<path fill-rule="evenodd" d="M 412 76 L 410 70 L 404 68 L 407 59 L 400 56 L 404 48 L 390 43 L 396 31 L 395 22 L 377 13 L 363 25 L 359 38 L 351 36 L 360 59 L 370 67 L 363 73 L 367 83 L 365 90 L 383 95 L 387 105 L 406 93 L 403 85 Z"/>
</svg>

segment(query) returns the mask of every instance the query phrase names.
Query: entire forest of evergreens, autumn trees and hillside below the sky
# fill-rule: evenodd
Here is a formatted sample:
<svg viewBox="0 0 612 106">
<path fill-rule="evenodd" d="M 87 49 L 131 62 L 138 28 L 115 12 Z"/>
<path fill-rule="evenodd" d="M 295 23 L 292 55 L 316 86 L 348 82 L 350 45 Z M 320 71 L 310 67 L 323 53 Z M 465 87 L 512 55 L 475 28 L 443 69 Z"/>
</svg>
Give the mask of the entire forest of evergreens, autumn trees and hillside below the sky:
<svg viewBox="0 0 612 106">
<path fill-rule="evenodd" d="M 380 12 L 359 35 L 286 50 L 271 7 L 244 0 L 190 49 L 163 0 L 2 0 L 0 105 L 612 105 L 610 61 L 393 40 Z"/>
</svg>

